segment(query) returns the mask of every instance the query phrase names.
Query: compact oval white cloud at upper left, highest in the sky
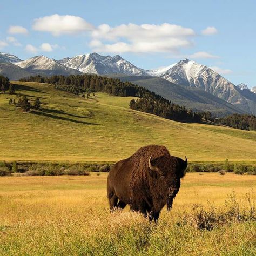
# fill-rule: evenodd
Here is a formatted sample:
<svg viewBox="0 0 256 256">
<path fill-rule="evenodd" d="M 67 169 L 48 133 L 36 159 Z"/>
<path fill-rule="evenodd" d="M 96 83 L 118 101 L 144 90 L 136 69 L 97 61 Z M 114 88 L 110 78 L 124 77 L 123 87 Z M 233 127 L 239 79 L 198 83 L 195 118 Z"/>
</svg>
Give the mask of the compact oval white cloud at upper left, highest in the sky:
<svg viewBox="0 0 256 256">
<path fill-rule="evenodd" d="M 93 26 L 78 16 L 54 14 L 35 19 L 32 28 L 36 31 L 50 32 L 53 36 L 59 36 L 92 30 Z"/>
</svg>

